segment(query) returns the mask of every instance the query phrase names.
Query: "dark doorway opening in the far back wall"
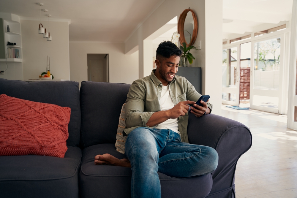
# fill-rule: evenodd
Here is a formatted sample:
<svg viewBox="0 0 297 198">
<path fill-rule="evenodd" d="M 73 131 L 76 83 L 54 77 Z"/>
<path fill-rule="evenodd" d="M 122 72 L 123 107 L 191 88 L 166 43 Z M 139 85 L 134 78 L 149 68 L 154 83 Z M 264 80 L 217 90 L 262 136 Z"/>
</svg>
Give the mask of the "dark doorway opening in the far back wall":
<svg viewBox="0 0 297 198">
<path fill-rule="evenodd" d="M 108 54 L 87 54 L 88 81 L 109 82 Z"/>
</svg>

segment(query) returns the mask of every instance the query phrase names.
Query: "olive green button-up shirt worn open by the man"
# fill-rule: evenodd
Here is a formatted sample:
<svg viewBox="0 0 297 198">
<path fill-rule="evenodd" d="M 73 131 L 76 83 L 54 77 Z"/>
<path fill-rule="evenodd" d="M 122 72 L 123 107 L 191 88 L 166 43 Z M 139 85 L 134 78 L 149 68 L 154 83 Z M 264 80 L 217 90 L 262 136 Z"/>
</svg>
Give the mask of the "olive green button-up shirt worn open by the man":
<svg viewBox="0 0 297 198">
<path fill-rule="evenodd" d="M 125 107 L 126 128 L 124 132 L 127 135 L 137 127 L 149 127 L 146 126 L 146 123 L 151 115 L 161 110 L 159 99 L 162 83 L 154 75 L 154 72 L 155 70 L 151 72 L 151 75 L 135 80 L 130 86 Z M 169 82 L 169 91 L 174 105 L 186 100 L 197 101 L 201 96 L 194 86 L 185 77 L 181 76 L 175 76 Z M 212 104 L 207 102 L 207 106 L 211 111 Z M 182 142 L 189 142 L 187 135 L 188 117 L 189 115 L 186 113 L 186 115 L 178 118 L 178 131 L 181 134 Z M 156 126 L 149 128 L 154 129 Z M 123 134 L 125 135 L 125 133 Z"/>
</svg>

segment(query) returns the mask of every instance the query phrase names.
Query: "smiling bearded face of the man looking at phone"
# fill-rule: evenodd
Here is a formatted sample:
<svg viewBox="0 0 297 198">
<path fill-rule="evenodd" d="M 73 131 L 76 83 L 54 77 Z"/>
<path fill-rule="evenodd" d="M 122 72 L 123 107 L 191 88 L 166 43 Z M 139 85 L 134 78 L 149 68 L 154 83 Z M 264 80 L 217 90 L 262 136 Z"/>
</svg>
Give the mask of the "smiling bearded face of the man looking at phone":
<svg viewBox="0 0 297 198">
<path fill-rule="evenodd" d="M 156 72 L 155 76 L 161 81 L 163 85 L 168 85 L 176 75 L 179 65 L 179 56 L 170 56 L 169 58 L 163 58 L 161 62 L 156 60 Z"/>
</svg>

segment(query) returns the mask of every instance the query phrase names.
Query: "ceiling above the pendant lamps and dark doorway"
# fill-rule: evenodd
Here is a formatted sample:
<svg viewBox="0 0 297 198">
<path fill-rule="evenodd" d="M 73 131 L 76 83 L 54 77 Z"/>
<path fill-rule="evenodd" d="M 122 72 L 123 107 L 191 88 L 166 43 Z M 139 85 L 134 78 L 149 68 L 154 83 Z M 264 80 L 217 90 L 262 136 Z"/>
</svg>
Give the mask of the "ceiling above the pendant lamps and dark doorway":
<svg viewBox="0 0 297 198">
<path fill-rule="evenodd" d="M 36 0 L 0 0 L 0 12 L 40 18 Z M 70 19 L 70 41 L 124 42 L 162 0 L 40 0 L 53 19 Z M 47 20 L 47 19 L 45 19 Z"/>
</svg>

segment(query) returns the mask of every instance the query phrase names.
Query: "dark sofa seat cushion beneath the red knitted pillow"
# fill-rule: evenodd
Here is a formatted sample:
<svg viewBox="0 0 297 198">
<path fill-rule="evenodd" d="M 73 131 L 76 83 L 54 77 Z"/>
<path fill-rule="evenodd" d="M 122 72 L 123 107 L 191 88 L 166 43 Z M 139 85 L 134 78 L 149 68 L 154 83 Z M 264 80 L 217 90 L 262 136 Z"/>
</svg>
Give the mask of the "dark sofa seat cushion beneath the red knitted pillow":
<svg viewBox="0 0 297 198">
<path fill-rule="evenodd" d="M 67 147 L 64 158 L 0 156 L 0 197 L 78 197 L 81 150 Z"/>
</svg>

